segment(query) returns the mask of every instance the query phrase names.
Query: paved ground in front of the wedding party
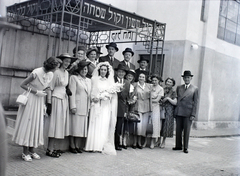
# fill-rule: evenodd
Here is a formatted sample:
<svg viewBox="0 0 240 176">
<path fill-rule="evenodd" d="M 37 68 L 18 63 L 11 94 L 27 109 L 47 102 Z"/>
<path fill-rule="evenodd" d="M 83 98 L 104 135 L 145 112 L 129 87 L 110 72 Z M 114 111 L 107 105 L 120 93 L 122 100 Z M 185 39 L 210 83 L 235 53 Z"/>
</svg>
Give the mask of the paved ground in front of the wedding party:
<svg viewBox="0 0 240 176">
<path fill-rule="evenodd" d="M 22 148 L 8 135 L 7 175 L 237 176 L 240 175 L 239 131 L 192 130 L 188 154 L 172 150 L 174 137 L 167 139 L 164 149 L 128 148 L 117 152 L 117 156 L 66 152 L 60 158 L 51 158 L 45 155 L 43 148 L 38 148 L 36 151 L 42 159 L 32 162 L 21 159 Z"/>
</svg>

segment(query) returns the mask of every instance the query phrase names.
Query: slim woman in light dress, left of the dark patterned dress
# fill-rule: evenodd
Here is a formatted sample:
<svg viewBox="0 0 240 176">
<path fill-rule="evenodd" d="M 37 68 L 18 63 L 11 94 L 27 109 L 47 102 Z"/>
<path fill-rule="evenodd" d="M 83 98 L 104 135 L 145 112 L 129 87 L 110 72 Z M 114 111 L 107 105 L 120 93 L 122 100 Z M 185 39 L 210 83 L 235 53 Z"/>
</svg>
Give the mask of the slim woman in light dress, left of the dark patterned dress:
<svg viewBox="0 0 240 176">
<path fill-rule="evenodd" d="M 150 148 L 153 149 L 156 140 L 160 137 L 161 123 L 160 123 L 160 105 L 159 100 L 164 95 L 163 88 L 159 85 L 161 81 L 160 76 L 154 74 L 151 76 L 152 80 L 152 124 L 153 124 L 153 134 L 151 135 Z"/>
</svg>

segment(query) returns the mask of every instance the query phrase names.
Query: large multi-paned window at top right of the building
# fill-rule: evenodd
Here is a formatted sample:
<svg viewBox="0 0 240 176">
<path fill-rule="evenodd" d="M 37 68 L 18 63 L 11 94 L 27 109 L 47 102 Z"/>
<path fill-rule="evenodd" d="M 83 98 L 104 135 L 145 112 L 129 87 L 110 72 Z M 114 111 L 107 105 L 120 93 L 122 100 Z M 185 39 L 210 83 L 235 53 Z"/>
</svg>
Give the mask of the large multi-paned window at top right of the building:
<svg viewBox="0 0 240 176">
<path fill-rule="evenodd" d="M 238 0 L 221 0 L 217 37 L 240 46 L 240 2 Z"/>
</svg>

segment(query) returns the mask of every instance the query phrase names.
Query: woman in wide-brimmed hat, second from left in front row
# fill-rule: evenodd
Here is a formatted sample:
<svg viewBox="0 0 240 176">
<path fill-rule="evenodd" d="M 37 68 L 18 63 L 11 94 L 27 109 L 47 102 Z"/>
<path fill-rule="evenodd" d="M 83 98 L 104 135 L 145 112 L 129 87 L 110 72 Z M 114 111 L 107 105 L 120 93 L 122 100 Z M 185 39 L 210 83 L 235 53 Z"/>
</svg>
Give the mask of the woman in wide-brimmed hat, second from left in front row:
<svg viewBox="0 0 240 176">
<path fill-rule="evenodd" d="M 48 103 L 51 103 L 51 118 L 49 125 L 49 143 L 46 154 L 52 157 L 59 157 L 59 146 L 56 145 L 60 139 L 69 136 L 69 104 L 66 94 L 66 86 L 68 85 L 69 73 L 66 70 L 70 63 L 74 60 L 68 53 L 63 53 L 57 58 L 62 60 L 59 69 L 54 72 L 51 82 L 51 96 Z M 49 106 L 48 106 L 49 107 Z"/>
</svg>

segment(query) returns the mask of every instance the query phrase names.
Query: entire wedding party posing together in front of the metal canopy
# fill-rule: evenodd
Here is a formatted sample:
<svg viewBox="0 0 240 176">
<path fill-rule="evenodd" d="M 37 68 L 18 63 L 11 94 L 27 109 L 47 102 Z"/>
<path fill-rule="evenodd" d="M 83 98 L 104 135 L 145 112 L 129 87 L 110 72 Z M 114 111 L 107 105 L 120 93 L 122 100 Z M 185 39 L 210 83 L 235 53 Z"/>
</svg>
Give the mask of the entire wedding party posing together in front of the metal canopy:
<svg viewBox="0 0 240 176">
<path fill-rule="evenodd" d="M 167 78 L 163 88 L 159 75 L 149 76 L 147 58 L 140 57 L 135 69 L 131 48 L 122 52 L 123 61 L 114 57 L 119 50 L 116 43 L 106 49 L 108 55 L 103 57 L 97 47 L 86 51 L 84 46 L 74 48 L 74 56 L 50 57 L 22 82 L 25 93 L 30 93 L 27 104 L 19 106 L 13 140 L 23 146 L 23 160 L 40 159 L 34 148 L 44 143 L 44 116 L 50 117 L 46 155 L 51 157 L 64 153 L 57 144 L 66 136 L 72 153 L 116 155 L 116 150 L 128 146 L 142 149 L 147 139 L 151 149 L 164 148 L 166 138 L 173 137 L 174 117 L 173 150 L 188 152 L 198 101 L 198 89 L 190 84 L 191 72 L 184 72 L 185 84 L 176 91 L 173 78 Z M 128 119 L 130 113 L 137 114 L 137 121 Z M 152 134 L 147 133 L 149 123 Z"/>
</svg>

